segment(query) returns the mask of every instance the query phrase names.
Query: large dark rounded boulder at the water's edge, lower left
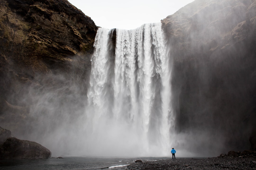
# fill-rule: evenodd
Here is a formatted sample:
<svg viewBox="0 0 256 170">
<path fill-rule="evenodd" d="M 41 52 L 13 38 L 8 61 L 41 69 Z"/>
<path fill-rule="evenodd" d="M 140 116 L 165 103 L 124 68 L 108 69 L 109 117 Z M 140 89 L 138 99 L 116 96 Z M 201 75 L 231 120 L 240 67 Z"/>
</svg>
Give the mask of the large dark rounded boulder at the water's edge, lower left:
<svg viewBox="0 0 256 170">
<path fill-rule="evenodd" d="M 50 150 L 42 145 L 13 137 L 0 147 L 0 159 L 47 159 L 50 156 Z"/>
</svg>

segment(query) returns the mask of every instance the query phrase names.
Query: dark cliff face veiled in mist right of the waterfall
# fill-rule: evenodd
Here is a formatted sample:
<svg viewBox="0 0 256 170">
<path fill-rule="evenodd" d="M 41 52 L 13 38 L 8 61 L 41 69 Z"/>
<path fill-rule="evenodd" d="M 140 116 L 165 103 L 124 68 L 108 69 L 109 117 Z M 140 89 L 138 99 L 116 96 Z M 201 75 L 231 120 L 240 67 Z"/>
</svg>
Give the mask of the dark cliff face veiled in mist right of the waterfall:
<svg viewBox="0 0 256 170">
<path fill-rule="evenodd" d="M 251 0 L 196 0 L 161 21 L 173 59 L 175 130 L 193 134 L 187 149 L 255 147 L 255 11 Z"/>
</svg>

